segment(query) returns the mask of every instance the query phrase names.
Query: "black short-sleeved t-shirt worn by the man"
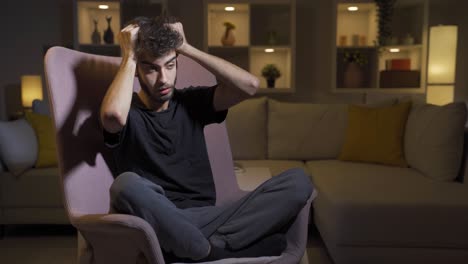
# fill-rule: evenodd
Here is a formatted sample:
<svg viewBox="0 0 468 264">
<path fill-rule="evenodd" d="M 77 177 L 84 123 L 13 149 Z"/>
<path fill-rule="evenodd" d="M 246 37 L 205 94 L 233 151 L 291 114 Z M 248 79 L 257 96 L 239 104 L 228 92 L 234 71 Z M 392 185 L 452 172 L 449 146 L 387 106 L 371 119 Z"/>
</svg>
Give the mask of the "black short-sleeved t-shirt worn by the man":
<svg viewBox="0 0 468 264">
<path fill-rule="evenodd" d="M 213 205 L 216 192 L 203 128 L 227 115 L 227 110 L 214 110 L 215 89 L 175 90 L 161 112 L 146 109 L 134 93 L 125 127 L 118 134 L 104 131 L 117 173 L 132 171 L 160 185 L 179 208 Z"/>
</svg>

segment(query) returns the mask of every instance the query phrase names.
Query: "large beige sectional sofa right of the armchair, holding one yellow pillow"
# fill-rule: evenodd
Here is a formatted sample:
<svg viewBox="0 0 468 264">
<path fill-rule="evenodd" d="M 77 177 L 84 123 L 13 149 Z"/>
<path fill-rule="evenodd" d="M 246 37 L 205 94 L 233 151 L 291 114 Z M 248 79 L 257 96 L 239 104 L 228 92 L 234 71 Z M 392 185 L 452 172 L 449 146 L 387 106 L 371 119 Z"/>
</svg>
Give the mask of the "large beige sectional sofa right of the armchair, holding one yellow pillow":
<svg viewBox="0 0 468 264">
<path fill-rule="evenodd" d="M 318 190 L 311 224 L 337 264 L 468 263 L 465 104 L 412 105 L 403 167 L 339 159 L 349 111 L 341 104 L 244 101 L 226 121 L 235 162 L 272 175 L 306 170 Z"/>
</svg>

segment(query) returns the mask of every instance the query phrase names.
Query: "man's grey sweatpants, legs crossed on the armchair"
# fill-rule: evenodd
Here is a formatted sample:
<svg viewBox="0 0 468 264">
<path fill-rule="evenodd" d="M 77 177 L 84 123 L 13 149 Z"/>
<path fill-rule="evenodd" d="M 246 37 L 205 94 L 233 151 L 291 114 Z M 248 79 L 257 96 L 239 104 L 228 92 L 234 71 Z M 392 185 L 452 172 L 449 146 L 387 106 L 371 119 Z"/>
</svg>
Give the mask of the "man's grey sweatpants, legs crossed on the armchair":
<svg viewBox="0 0 468 264">
<path fill-rule="evenodd" d="M 133 172 L 120 174 L 110 188 L 111 212 L 145 219 L 164 250 L 194 260 L 208 255 L 210 242 L 236 250 L 282 230 L 311 193 L 302 169 L 287 170 L 225 206 L 179 209 L 161 186 Z"/>
</svg>

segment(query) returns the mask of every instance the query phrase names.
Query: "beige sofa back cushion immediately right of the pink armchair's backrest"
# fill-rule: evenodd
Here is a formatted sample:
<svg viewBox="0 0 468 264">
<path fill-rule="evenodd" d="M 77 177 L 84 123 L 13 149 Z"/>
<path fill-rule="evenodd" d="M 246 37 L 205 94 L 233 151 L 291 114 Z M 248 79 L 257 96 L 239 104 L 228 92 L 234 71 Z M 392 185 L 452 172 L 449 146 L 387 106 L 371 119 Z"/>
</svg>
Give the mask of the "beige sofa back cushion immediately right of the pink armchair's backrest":
<svg viewBox="0 0 468 264">
<path fill-rule="evenodd" d="M 231 107 L 226 117 L 234 159 L 265 159 L 267 99 L 249 99 Z"/>
</svg>

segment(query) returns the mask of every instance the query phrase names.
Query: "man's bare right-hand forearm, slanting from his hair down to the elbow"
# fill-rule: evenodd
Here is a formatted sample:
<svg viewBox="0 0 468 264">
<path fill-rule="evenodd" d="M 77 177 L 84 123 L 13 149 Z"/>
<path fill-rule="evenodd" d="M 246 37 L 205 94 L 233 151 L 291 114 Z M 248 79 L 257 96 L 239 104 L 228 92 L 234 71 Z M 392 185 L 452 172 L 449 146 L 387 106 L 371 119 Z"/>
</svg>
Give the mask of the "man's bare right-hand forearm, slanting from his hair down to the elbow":
<svg viewBox="0 0 468 264">
<path fill-rule="evenodd" d="M 225 86 L 237 88 L 246 94 L 254 95 L 258 88 L 258 79 L 244 69 L 221 58 L 205 53 L 186 43 L 179 52 L 200 63 L 213 73 L 218 82 Z"/>
</svg>

